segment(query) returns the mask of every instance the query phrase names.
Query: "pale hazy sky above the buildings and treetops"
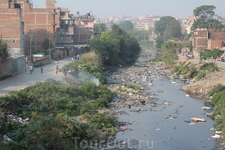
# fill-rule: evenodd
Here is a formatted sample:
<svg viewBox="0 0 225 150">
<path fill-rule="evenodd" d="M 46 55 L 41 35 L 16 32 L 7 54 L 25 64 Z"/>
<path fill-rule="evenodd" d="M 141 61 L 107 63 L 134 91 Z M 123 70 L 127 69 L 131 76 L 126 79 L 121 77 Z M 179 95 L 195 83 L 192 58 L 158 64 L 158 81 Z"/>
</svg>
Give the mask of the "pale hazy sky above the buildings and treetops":
<svg viewBox="0 0 225 150">
<path fill-rule="evenodd" d="M 32 0 L 35 8 L 45 8 L 45 0 Z M 225 15 L 225 0 L 56 0 L 56 7 L 67 7 L 81 15 L 92 11 L 98 18 L 110 16 L 159 15 L 187 17 L 201 5 L 214 5 L 216 14 Z"/>
</svg>

